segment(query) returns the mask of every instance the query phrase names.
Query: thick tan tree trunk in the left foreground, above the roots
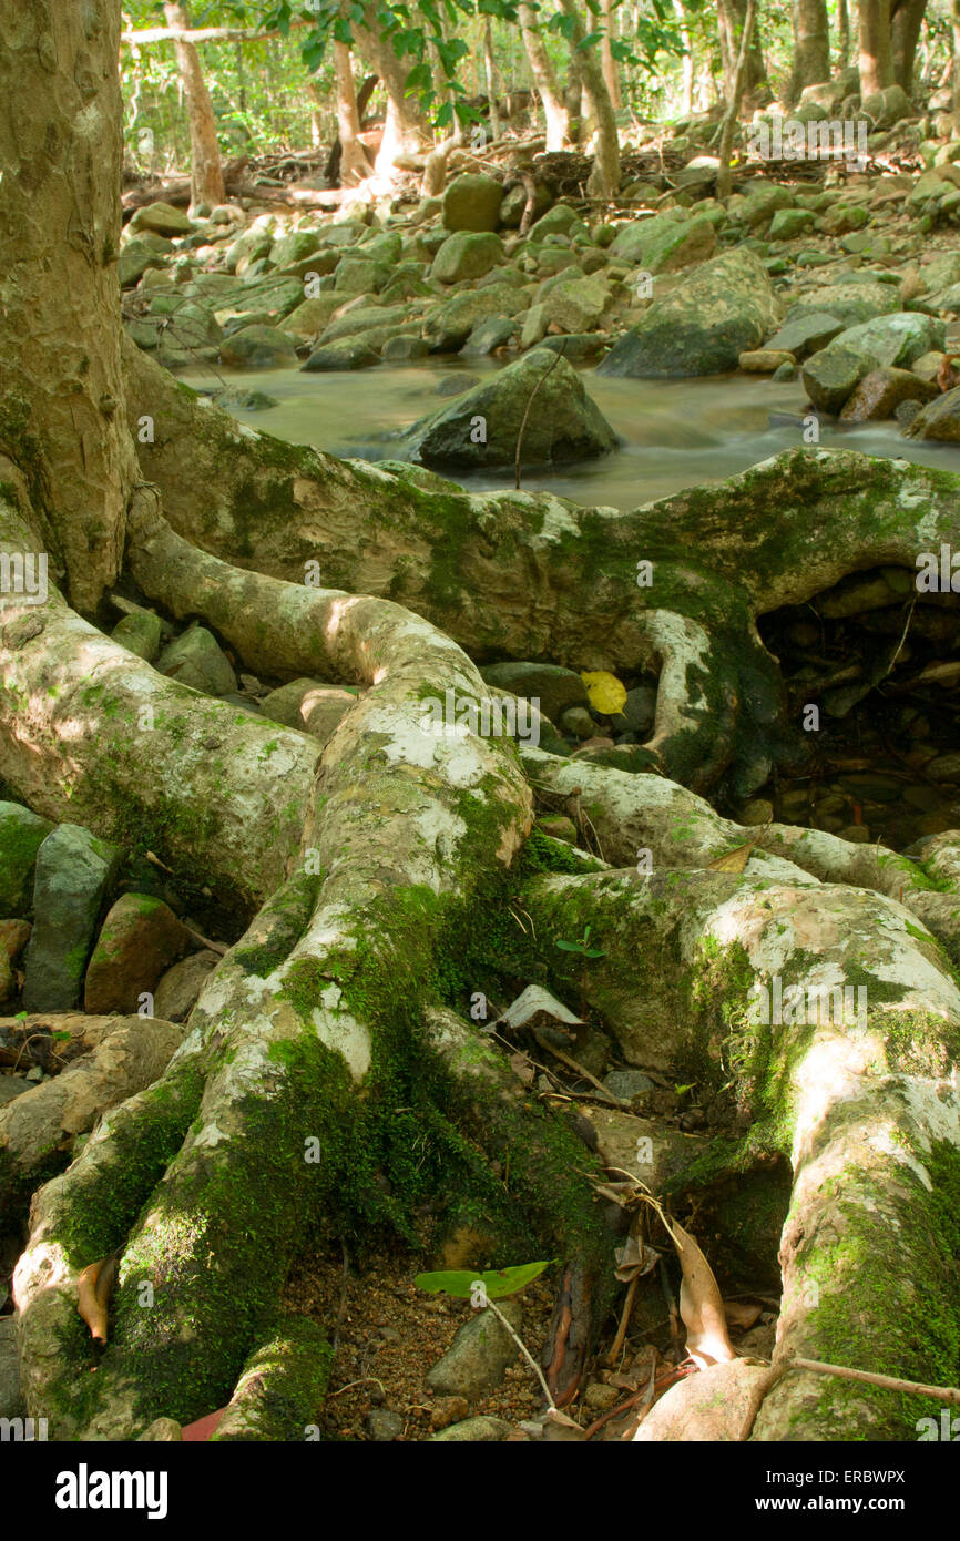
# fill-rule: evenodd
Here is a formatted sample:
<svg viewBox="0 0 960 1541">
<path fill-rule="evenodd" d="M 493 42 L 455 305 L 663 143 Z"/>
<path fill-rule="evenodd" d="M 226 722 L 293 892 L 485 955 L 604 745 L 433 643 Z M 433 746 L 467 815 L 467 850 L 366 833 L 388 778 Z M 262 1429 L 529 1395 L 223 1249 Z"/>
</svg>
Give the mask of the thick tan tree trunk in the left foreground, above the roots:
<svg viewBox="0 0 960 1541">
<path fill-rule="evenodd" d="M 120 569 L 139 476 L 120 376 L 119 35 L 109 0 L 0 0 L 0 459 L 25 479 L 51 579 L 65 572 L 88 613 Z"/>
</svg>

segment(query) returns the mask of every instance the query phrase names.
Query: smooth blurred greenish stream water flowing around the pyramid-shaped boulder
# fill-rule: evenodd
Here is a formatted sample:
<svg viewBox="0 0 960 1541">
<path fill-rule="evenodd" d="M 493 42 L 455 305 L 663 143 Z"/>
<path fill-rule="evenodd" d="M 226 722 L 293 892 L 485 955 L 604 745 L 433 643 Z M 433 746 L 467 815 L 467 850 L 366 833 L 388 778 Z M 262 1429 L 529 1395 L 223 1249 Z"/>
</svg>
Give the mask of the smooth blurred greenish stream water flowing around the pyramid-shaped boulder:
<svg viewBox="0 0 960 1541">
<path fill-rule="evenodd" d="M 304 374 L 299 370 L 243 371 L 230 385 L 263 390 L 279 401 L 268 411 L 237 411 L 254 428 L 280 439 L 313 444 L 357 459 L 402 458 L 401 438 L 451 398 L 438 387 L 451 374 L 484 376 L 492 361 L 470 365 L 450 359 L 350 373 Z M 216 388 L 203 373 L 191 385 Z M 764 376 L 710 376 L 690 381 L 609 379 L 587 371 L 590 396 L 619 435 L 616 453 L 599 461 L 524 473 L 527 490 L 549 488 L 587 505 L 635 509 L 701 482 L 723 481 L 803 442 L 804 393 L 800 381 L 775 385 Z M 789 416 L 794 421 L 778 421 Z M 821 421 L 820 442 L 864 455 L 909 459 L 960 472 L 960 447 L 903 439 L 894 424 L 841 427 Z M 513 485 L 512 473 L 456 476 L 470 490 Z"/>
</svg>

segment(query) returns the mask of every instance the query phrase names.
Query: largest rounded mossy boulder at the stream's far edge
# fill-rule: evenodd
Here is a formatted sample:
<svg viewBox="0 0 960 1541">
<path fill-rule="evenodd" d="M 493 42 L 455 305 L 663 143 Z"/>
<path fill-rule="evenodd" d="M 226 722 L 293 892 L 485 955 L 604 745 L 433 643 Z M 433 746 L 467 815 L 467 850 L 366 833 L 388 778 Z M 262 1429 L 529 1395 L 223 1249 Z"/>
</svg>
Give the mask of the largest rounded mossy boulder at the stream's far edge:
<svg viewBox="0 0 960 1541">
<path fill-rule="evenodd" d="M 670 379 L 735 370 L 774 325 L 774 291 L 752 251 L 724 251 L 655 300 L 598 365 L 598 374 Z"/>
</svg>

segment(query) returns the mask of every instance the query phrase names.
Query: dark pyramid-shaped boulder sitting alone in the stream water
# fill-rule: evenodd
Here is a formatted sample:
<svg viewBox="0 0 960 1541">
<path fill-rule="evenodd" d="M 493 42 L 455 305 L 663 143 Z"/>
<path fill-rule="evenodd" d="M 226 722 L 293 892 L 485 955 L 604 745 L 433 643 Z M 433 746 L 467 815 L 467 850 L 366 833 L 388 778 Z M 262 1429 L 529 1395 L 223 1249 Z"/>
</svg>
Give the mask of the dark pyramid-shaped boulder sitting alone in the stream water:
<svg viewBox="0 0 960 1541">
<path fill-rule="evenodd" d="M 547 373 L 549 371 L 549 373 Z M 492 470 L 513 465 L 521 424 L 522 464 L 556 465 L 607 455 L 616 435 L 564 358 L 533 348 L 410 430 L 407 455 L 421 465 Z"/>
</svg>

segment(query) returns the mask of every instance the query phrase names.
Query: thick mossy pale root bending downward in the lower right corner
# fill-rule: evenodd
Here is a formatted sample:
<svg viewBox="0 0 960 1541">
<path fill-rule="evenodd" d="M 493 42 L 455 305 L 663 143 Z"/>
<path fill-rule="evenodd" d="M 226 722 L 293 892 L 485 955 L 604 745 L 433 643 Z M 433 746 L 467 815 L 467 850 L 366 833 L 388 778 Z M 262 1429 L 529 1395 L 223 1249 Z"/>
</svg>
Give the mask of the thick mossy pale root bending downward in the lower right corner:
<svg viewBox="0 0 960 1541">
<path fill-rule="evenodd" d="M 555 942 L 590 925 L 603 957 L 576 988 L 629 1060 L 750 1116 L 720 1170 L 790 1160 L 778 1351 L 955 1384 L 960 989 L 938 942 L 894 900 L 809 878 L 536 877 L 519 903 L 555 979 Z M 792 1373 L 754 1438 L 909 1439 L 925 1412 Z"/>
</svg>

